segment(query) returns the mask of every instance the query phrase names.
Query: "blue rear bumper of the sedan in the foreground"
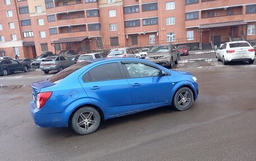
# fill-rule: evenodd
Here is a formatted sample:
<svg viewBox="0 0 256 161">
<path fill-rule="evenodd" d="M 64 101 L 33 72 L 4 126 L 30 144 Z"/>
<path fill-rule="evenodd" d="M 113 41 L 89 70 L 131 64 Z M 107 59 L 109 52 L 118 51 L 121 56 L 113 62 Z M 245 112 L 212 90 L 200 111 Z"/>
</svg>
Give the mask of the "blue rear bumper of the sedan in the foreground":
<svg viewBox="0 0 256 161">
<path fill-rule="evenodd" d="M 29 104 L 30 113 L 34 119 L 35 125 L 39 127 L 68 127 L 65 123 L 64 113 L 43 113 L 41 110 L 35 107 L 35 103 L 32 100 Z"/>
</svg>

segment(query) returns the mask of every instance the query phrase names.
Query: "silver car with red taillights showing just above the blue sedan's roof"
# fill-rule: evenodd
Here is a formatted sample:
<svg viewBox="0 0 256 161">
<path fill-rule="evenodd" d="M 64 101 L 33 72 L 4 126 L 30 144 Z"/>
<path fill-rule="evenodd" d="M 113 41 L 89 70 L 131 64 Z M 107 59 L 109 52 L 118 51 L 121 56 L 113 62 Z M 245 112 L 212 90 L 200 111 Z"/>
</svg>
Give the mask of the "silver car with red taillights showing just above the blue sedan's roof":
<svg viewBox="0 0 256 161">
<path fill-rule="evenodd" d="M 136 54 L 130 48 L 111 49 L 107 57 L 132 57 L 136 58 Z"/>
</svg>

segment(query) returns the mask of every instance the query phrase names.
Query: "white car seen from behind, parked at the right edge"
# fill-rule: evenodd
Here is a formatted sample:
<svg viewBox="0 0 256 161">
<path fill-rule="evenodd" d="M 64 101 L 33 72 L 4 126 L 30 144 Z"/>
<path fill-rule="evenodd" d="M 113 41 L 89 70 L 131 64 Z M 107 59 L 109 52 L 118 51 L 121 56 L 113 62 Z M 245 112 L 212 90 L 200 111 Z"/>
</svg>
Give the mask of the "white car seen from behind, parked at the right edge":
<svg viewBox="0 0 256 161">
<path fill-rule="evenodd" d="M 252 64 L 254 59 L 254 48 L 245 41 L 225 43 L 218 52 L 218 61 L 222 60 L 224 65 L 231 61 L 248 61 Z"/>
</svg>

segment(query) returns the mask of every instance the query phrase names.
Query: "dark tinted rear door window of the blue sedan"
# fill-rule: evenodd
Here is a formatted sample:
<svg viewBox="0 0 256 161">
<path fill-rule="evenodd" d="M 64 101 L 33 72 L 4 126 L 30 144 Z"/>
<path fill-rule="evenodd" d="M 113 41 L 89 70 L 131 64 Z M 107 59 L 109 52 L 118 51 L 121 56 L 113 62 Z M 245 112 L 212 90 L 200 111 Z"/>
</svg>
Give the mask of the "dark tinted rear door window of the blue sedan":
<svg viewBox="0 0 256 161">
<path fill-rule="evenodd" d="M 122 79 L 118 63 L 107 63 L 94 67 L 83 76 L 83 81 L 105 81 Z"/>
</svg>

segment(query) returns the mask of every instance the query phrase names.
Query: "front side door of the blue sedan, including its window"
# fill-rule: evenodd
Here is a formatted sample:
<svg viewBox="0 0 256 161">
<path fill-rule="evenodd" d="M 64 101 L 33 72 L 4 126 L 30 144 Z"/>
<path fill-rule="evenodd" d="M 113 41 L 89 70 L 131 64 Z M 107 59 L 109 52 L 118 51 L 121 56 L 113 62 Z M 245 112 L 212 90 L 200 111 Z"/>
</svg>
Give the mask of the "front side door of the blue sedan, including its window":
<svg viewBox="0 0 256 161">
<path fill-rule="evenodd" d="M 168 105 L 172 87 L 161 69 L 148 63 L 122 61 L 131 89 L 132 111 Z"/>
</svg>

